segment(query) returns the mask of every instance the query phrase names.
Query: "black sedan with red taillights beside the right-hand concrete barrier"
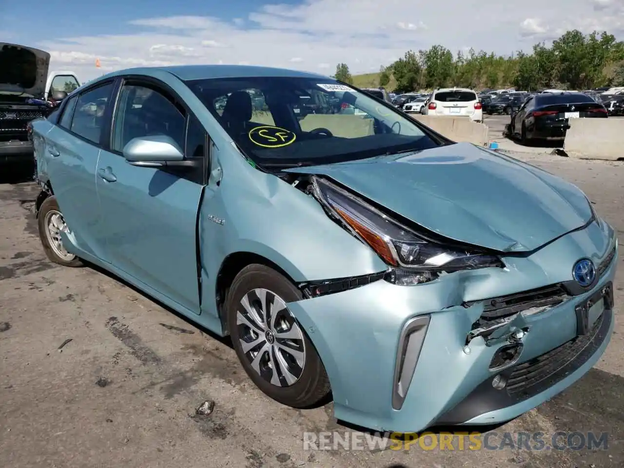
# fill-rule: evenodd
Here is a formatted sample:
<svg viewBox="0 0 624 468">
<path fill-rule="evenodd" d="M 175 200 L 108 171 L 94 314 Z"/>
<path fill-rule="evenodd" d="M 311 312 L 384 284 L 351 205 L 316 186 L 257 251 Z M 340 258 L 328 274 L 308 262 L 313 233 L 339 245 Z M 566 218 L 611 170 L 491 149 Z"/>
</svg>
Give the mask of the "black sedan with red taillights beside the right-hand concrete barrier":
<svg viewBox="0 0 624 468">
<path fill-rule="evenodd" d="M 511 116 L 509 134 L 521 144 L 531 140 L 560 140 L 570 119 L 608 117 L 607 109 L 580 92 L 541 93 L 530 97 Z"/>
</svg>

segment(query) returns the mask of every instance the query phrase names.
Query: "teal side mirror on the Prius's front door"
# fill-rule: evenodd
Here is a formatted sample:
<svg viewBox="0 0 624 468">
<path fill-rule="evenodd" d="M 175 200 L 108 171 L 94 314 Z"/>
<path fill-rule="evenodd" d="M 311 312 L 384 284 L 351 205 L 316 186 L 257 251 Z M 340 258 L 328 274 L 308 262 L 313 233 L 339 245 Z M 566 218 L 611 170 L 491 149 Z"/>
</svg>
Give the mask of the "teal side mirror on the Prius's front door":
<svg viewBox="0 0 624 468">
<path fill-rule="evenodd" d="M 141 167 L 195 167 L 198 163 L 195 159 L 185 159 L 180 147 L 167 135 L 133 138 L 124 147 L 124 158 Z"/>
</svg>

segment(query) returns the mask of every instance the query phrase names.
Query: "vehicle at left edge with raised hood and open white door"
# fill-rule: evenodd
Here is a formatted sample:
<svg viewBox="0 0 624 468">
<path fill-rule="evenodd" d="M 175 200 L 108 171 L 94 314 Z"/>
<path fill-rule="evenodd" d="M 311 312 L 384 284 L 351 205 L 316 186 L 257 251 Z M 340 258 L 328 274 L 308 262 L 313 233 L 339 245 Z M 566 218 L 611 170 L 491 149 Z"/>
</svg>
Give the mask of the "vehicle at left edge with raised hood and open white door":
<svg viewBox="0 0 624 468">
<path fill-rule="evenodd" d="M 47 117 L 80 86 L 71 71 L 48 72 L 50 54 L 0 42 L 0 165 L 32 158 L 27 125 Z"/>
</svg>

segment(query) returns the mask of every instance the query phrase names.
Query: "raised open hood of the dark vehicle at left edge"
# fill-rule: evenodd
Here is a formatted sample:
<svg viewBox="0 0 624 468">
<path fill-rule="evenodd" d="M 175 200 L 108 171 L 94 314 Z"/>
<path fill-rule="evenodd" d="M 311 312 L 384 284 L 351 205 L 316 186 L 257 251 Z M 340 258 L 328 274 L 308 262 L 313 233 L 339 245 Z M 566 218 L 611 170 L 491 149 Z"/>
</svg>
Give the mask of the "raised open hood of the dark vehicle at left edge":
<svg viewBox="0 0 624 468">
<path fill-rule="evenodd" d="M 49 66 L 50 54 L 45 51 L 0 42 L 0 91 L 43 95 Z"/>
</svg>

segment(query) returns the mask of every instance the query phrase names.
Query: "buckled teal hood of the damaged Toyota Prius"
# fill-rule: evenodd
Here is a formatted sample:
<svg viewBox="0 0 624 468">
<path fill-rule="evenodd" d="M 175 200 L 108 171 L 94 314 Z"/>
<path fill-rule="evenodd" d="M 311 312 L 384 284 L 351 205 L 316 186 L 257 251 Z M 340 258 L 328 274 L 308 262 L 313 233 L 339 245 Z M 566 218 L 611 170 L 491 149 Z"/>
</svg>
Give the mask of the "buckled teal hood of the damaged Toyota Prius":
<svg viewBox="0 0 624 468">
<path fill-rule="evenodd" d="M 575 185 L 469 143 L 286 171 L 326 175 L 432 232 L 498 251 L 535 250 L 592 218 Z"/>
</svg>

